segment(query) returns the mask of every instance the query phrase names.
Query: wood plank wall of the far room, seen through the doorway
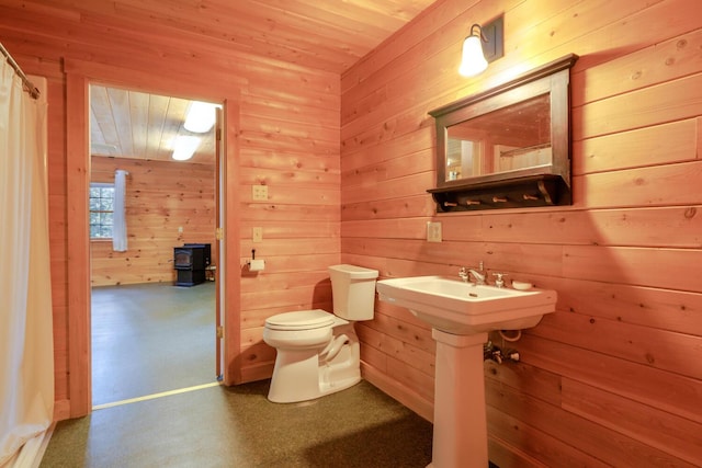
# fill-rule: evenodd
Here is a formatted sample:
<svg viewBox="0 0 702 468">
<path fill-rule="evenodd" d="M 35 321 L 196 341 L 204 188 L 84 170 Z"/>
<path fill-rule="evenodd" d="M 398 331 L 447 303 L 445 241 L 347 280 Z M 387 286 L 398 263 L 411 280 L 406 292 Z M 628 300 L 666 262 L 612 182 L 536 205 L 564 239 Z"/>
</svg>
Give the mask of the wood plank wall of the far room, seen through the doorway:
<svg viewBox="0 0 702 468">
<path fill-rule="evenodd" d="M 112 240 L 91 240 L 91 284 L 173 282 L 174 247 L 184 242 L 214 246 L 215 167 L 93 156 L 91 181 L 114 183 L 117 169 L 128 172 L 128 249 L 115 252 Z"/>
</svg>

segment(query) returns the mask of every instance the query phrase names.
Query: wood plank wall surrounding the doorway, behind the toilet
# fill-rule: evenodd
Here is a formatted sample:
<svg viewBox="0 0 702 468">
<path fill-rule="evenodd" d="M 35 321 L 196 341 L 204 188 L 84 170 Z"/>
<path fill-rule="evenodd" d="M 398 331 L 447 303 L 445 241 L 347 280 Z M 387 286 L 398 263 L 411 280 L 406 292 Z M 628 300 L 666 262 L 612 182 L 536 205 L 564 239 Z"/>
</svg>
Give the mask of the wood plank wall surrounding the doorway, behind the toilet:
<svg viewBox="0 0 702 468">
<path fill-rule="evenodd" d="M 236 151 L 229 153 L 227 171 L 228 180 L 239 181 L 238 186 L 229 187 L 239 191 L 229 197 L 238 199 L 238 206 L 228 207 L 240 227 L 240 248 L 235 254 L 240 254 L 244 265 L 256 248 L 267 269 L 247 276 L 242 267 L 240 285 L 239 272 L 227 277 L 226 289 L 239 290 L 240 286 L 241 297 L 230 300 L 225 311 L 227 342 L 240 343 L 240 353 L 235 351 L 226 365 L 235 381 L 270 377 L 274 351 L 262 343 L 265 317 L 331 307 L 327 266 L 339 263 L 340 251 L 340 77 L 234 53 L 226 41 L 178 34 L 167 25 L 120 21 L 110 14 L 81 15 L 41 1 L 2 3 L 0 41 L 27 73 L 49 79 L 56 416 L 81 414 L 71 411 L 71 396 L 89 392 L 69 388 L 68 376 L 90 372 L 69 365 L 71 323 L 81 322 L 83 312 L 69 308 L 67 298 L 71 281 L 67 226 L 75 221 L 68 217 L 71 187 L 66 182 L 67 69 L 89 72 L 102 83 L 133 84 L 147 92 L 212 102 L 239 100 L 230 103 L 240 124 L 238 138 L 229 141 Z M 268 185 L 268 201 L 252 201 L 254 184 Z M 253 226 L 263 229 L 263 241 L 256 246 L 251 242 Z"/>
</svg>

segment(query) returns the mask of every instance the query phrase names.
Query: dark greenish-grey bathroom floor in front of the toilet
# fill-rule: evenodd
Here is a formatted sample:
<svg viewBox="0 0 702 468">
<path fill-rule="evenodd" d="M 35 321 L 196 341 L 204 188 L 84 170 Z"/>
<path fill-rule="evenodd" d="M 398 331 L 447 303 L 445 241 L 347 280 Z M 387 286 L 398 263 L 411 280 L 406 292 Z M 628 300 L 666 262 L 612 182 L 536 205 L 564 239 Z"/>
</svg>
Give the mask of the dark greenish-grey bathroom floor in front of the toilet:
<svg viewBox="0 0 702 468">
<path fill-rule="evenodd" d="M 361 384 L 306 403 L 268 380 L 94 411 L 58 424 L 41 467 L 426 467 L 432 425 Z"/>
</svg>

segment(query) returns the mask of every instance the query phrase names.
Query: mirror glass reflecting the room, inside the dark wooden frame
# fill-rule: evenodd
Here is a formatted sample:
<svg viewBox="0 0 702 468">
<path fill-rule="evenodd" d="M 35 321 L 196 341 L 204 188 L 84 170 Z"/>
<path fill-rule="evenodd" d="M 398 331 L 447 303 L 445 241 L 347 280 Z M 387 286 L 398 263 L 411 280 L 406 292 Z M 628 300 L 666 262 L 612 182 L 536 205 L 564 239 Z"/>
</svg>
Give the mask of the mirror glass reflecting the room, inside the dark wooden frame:
<svg viewBox="0 0 702 468">
<path fill-rule="evenodd" d="M 446 181 L 552 162 L 548 93 L 446 128 Z"/>
</svg>

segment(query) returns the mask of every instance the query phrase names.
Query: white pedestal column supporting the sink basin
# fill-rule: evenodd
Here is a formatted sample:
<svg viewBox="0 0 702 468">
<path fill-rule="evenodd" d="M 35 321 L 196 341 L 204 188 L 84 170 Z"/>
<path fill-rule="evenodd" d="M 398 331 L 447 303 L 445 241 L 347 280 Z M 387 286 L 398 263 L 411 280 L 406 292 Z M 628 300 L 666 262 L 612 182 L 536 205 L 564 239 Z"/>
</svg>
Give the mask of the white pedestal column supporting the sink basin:
<svg viewBox="0 0 702 468">
<path fill-rule="evenodd" d="M 483 345 L 487 333 L 457 335 L 437 329 L 432 468 L 487 468 Z"/>
</svg>

